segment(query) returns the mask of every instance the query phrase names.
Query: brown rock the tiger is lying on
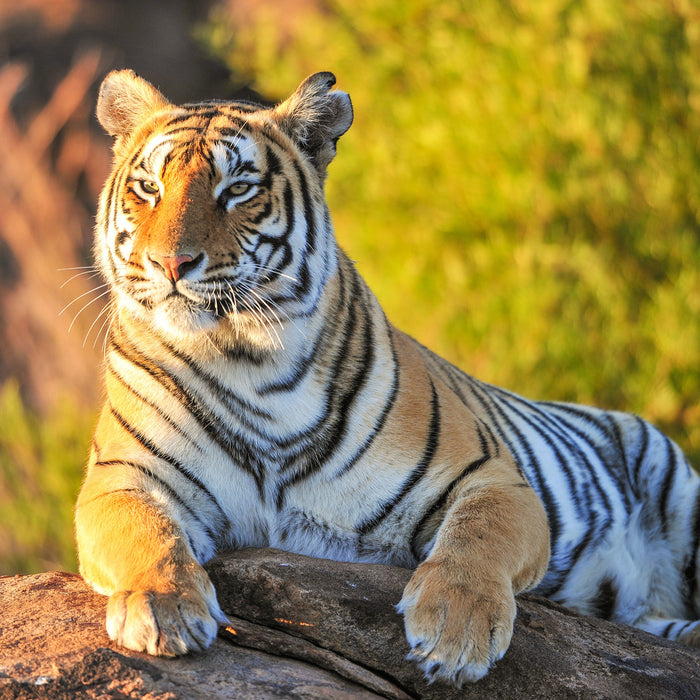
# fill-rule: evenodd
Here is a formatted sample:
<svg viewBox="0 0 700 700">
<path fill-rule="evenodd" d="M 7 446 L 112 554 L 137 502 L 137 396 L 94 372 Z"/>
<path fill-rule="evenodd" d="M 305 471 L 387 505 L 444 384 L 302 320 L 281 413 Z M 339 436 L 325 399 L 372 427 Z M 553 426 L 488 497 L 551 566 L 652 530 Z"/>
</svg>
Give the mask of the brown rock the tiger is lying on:
<svg viewBox="0 0 700 700">
<path fill-rule="evenodd" d="M 158 659 L 104 631 L 105 598 L 79 576 L 0 578 L 6 698 L 697 698 L 700 652 L 518 599 L 513 643 L 461 691 L 408 661 L 397 567 L 243 550 L 208 566 L 231 624 L 206 653 Z"/>
</svg>

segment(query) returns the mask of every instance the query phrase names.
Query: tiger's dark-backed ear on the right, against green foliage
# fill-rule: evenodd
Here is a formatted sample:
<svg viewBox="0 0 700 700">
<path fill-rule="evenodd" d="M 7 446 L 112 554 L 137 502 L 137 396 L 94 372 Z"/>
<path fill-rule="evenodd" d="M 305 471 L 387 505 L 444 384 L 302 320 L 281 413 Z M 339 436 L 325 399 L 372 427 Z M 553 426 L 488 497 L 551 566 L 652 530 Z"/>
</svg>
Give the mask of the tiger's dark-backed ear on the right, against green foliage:
<svg viewBox="0 0 700 700">
<path fill-rule="evenodd" d="M 314 73 L 273 111 L 275 120 L 316 166 L 321 179 L 335 156 L 336 141 L 352 124 L 352 103 L 345 92 L 331 91 L 333 73 Z"/>
</svg>

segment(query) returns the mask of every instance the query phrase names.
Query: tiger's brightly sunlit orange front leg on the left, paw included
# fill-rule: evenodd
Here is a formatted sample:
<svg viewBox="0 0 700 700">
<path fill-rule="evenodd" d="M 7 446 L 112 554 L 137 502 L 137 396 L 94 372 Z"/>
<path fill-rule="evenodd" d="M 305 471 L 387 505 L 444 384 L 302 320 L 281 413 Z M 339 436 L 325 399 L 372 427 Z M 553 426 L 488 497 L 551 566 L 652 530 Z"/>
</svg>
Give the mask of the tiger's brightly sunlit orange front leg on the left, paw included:
<svg viewBox="0 0 700 700">
<path fill-rule="evenodd" d="M 226 622 L 207 573 L 155 499 L 119 484 L 93 466 L 76 508 L 80 573 L 109 596 L 110 638 L 154 655 L 206 649 Z"/>
</svg>

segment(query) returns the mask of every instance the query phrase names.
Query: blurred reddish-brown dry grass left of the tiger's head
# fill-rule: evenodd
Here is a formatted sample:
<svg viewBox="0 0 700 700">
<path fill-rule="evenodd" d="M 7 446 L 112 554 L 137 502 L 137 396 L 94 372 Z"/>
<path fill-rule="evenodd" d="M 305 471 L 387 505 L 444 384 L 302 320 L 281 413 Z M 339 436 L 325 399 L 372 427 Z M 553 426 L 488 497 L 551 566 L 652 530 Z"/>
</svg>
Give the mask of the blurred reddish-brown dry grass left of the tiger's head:
<svg viewBox="0 0 700 700">
<path fill-rule="evenodd" d="M 0 382 L 15 377 L 40 409 L 96 397 L 103 304 L 90 270 L 72 268 L 87 264 L 93 217 L 78 193 L 94 201 L 108 167 L 89 121 L 99 63 L 78 59 L 24 128 L 11 103 L 29 70 L 0 69 Z"/>
</svg>

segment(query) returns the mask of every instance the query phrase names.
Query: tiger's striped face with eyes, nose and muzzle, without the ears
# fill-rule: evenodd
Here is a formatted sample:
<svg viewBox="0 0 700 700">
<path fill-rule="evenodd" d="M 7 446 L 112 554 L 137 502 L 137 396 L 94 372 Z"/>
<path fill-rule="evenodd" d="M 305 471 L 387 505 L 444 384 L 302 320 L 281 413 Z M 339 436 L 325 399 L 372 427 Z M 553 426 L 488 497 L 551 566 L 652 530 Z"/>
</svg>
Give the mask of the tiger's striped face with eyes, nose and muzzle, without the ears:
<svg viewBox="0 0 700 700">
<path fill-rule="evenodd" d="M 122 307 L 169 335 L 256 328 L 295 296 L 308 237 L 296 225 L 296 154 L 235 126 L 227 114 L 177 114 L 114 182 L 110 282 Z"/>
</svg>

